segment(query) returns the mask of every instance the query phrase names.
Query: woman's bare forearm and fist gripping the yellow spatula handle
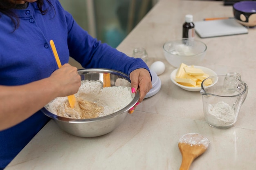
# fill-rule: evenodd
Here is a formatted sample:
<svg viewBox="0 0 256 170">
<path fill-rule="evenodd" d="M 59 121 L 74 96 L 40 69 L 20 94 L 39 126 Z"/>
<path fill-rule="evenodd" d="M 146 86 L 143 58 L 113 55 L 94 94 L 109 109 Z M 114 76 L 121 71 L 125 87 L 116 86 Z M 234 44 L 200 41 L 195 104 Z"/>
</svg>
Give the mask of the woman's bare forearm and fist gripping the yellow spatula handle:
<svg viewBox="0 0 256 170">
<path fill-rule="evenodd" d="M 24 121 L 55 97 L 73 95 L 80 85 L 77 68 L 70 64 L 64 64 L 50 77 L 29 84 L 0 85 L 0 131 Z"/>
</svg>

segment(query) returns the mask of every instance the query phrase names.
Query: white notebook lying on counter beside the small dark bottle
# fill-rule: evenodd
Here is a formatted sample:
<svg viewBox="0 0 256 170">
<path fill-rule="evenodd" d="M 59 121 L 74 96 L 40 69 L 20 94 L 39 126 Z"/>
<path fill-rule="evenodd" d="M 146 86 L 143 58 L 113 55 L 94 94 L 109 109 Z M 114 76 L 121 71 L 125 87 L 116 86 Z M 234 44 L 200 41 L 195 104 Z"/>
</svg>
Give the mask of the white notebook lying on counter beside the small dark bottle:
<svg viewBox="0 0 256 170">
<path fill-rule="evenodd" d="M 200 38 L 248 33 L 248 29 L 236 22 L 234 18 L 225 20 L 196 21 L 194 24 L 195 32 L 200 36 Z"/>
</svg>

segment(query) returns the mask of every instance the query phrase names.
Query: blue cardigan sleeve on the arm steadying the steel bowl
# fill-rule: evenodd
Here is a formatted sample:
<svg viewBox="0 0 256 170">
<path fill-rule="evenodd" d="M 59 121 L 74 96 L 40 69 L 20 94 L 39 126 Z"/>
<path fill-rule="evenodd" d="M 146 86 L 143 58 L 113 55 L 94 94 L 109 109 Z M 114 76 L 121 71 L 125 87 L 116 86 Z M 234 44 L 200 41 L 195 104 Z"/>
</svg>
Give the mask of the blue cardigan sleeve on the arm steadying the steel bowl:
<svg viewBox="0 0 256 170">
<path fill-rule="evenodd" d="M 108 44 L 102 44 L 84 31 L 70 15 L 67 14 L 67 18 L 69 18 L 68 25 L 72 25 L 67 40 L 70 56 L 83 67 L 110 68 L 128 75 L 137 68 L 146 68 L 149 71 L 143 60 L 128 57 Z"/>
</svg>

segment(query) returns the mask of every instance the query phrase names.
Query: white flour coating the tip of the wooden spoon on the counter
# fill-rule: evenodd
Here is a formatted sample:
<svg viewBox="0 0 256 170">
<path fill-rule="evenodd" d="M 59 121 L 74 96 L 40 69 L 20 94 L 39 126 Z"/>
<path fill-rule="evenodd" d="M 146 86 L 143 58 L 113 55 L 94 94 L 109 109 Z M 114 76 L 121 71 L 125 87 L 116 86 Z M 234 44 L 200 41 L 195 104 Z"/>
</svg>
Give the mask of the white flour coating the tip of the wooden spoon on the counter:
<svg viewBox="0 0 256 170">
<path fill-rule="evenodd" d="M 180 138 L 179 143 L 193 145 L 203 145 L 205 148 L 209 146 L 209 140 L 198 133 L 187 133 Z"/>
</svg>

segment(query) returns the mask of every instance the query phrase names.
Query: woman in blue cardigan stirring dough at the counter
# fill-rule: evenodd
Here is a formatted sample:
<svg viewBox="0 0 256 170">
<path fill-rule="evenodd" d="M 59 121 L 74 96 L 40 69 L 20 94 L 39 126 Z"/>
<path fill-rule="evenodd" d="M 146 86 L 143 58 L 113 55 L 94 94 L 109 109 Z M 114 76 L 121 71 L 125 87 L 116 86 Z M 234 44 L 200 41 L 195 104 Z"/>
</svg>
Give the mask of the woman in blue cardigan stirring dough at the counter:
<svg viewBox="0 0 256 170">
<path fill-rule="evenodd" d="M 58 69 L 49 41 L 63 66 Z M 110 68 L 130 76 L 139 102 L 152 88 L 148 66 L 139 58 L 92 38 L 58 0 L 0 1 L 0 170 L 43 128 L 40 109 L 80 87 L 73 57 L 84 68 Z M 65 88 L 64 88 L 65 87 Z"/>
</svg>

